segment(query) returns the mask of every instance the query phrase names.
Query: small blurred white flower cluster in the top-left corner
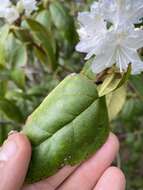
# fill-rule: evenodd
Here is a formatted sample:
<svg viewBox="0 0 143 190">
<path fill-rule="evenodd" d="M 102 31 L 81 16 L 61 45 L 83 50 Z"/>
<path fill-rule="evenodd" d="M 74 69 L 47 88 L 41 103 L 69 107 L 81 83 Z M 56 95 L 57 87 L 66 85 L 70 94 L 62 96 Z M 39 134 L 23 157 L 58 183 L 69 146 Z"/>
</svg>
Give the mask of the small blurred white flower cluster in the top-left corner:
<svg viewBox="0 0 143 190">
<path fill-rule="evenodd" d="M 1 1 L 0 4 L 0 18 L 4 18 L 8 23 L 15 22 L 21 13 L 29 16 L 36 7 L 36 0 L 17 0 L 16 5 L 10 0 Z"/>
</svg>

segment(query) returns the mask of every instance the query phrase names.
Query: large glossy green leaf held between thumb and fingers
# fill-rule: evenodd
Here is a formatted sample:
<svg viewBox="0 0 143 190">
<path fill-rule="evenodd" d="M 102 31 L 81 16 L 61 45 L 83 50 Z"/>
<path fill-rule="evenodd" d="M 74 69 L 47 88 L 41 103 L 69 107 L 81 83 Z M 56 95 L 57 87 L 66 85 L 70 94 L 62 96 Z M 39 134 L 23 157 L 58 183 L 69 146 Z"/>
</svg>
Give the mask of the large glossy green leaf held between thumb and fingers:
<svg viewBox="0 0 143 190">
<path fill-rule="evenodd" d="M 105 142 L 109 134 L 105 98 L 98 98 L 91 80 L 72 74 L 31 114 L 23 132 L 33 145 L 27 175 L 33 183 L 87 159 Z"/>
</svg>

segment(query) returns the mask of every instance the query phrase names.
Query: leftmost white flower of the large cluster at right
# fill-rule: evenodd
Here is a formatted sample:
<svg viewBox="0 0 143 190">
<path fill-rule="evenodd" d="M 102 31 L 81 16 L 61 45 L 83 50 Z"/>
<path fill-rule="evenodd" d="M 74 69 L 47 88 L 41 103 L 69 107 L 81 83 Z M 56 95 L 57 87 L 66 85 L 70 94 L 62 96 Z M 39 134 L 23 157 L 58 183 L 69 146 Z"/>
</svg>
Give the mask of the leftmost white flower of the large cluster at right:
<svg viewBox="0 0 143 190">
<path fill-rule="evenodd" d="M 91 12 L 79 13 L 78 21 L 81 28 L 78 30 L 81 41 L 76 46 L 79 52 L 87 53 L 86 59 L 90 58 L 98 50 L 102 38 L 106 35 L 106 23 L 101 15 L 91 9 Z"/>
</svg>

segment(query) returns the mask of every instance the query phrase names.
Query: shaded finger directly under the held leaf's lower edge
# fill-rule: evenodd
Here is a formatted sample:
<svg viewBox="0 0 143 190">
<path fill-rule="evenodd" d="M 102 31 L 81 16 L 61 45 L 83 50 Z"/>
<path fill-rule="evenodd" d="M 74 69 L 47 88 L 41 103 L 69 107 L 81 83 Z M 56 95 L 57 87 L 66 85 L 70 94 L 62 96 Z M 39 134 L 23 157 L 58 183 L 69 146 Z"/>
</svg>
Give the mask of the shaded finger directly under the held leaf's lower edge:
<svg viewBox="0 0 143 190">
<path fill-rule="evenodd" d="M 42 189 L 42 190 L 53 190 L 56 189 L 75 169 L 77 166 L 65 166 L 54 176 L 49 177 L 46 180 L 34 183 L 32 185 L 25 185 L 22 190 L 33 190 L 33 189 Z"/>
</svg>

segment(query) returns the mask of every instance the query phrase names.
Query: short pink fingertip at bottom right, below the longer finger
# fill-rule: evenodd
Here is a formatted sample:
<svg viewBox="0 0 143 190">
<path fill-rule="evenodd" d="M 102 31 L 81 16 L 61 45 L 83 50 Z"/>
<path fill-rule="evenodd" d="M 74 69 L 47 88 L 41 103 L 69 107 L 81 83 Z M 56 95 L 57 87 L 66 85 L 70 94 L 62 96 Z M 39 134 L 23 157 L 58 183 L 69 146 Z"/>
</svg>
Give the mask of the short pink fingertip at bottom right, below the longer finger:
<svg viewBox="0 0 143 190">
<path fill-rule="evenodd" d="M 126 180 L 122 171 L 116 167 L 108 168 L 94 190 L 125 190 Z"/>
</svg>

